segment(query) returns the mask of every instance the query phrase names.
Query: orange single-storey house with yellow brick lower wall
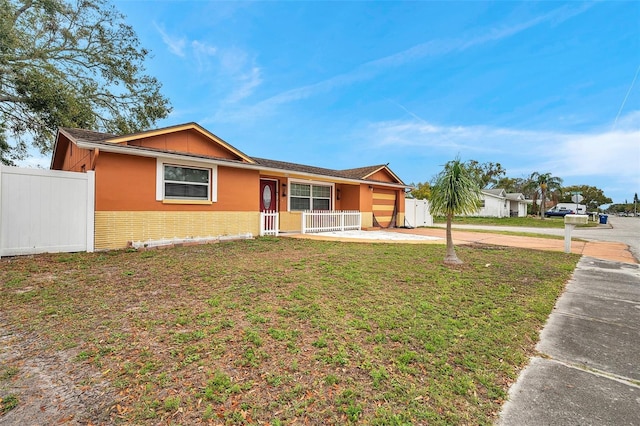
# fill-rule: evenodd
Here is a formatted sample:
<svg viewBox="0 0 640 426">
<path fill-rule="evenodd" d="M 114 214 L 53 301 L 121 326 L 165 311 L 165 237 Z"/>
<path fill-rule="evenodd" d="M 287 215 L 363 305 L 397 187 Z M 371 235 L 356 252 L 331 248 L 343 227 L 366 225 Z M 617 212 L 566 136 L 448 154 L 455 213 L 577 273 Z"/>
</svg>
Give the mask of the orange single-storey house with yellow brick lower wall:
<svg viewBox="0 0 640 426">
<path fill-rule="evenodd" d="M 60 128 L 51 169 L 95 172 L 95 249 L 258 235 L 261 211 L 299 232 L 304 210 L 357 210 L 363 228 L 404 223 L 407 186 L 386 165 L 331 170 L 249 157 L 196 123 L 116 136 Z"/>
</svg>

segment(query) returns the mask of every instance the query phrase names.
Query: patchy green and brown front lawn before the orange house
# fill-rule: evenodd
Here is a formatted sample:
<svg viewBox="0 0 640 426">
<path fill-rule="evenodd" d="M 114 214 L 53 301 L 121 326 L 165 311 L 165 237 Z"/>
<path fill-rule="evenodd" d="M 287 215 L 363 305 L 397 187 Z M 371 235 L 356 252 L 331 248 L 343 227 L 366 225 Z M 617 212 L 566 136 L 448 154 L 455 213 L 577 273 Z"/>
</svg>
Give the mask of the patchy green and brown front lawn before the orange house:
<svg viewBox="0 0 640 426">
<path fill-rule="evenodd" d="M 101 372 L 114 423 L 490 424 L 579 256 L 457 252 L 261 238 L 2 259 L 0 309 Z"/>
</svg>

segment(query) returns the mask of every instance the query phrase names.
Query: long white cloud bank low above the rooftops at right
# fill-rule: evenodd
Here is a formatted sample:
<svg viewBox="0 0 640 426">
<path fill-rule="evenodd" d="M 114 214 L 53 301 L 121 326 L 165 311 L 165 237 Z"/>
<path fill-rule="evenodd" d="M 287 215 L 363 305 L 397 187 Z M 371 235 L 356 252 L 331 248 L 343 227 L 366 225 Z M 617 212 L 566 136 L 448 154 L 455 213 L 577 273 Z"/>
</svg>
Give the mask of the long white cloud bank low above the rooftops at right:
<svg viewBox="0 0 640 426">
<path fill-rule="evenodd" d="M 609 176 L 640 187 L 640 111 L 622 117 L 614 131 L 565 133 L 412 120 L 374 123 L 359 136 L 372 148 L 500 162 L 509 176 L 534 171 L 563 178 Z"/>
</svg>

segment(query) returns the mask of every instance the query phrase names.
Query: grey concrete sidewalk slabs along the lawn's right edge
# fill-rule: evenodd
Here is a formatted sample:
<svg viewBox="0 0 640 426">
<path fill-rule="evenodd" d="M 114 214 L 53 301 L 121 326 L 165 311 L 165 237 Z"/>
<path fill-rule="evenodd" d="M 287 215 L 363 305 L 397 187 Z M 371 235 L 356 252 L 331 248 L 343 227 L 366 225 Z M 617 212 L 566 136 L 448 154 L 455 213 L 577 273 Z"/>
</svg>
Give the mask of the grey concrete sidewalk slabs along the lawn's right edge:
<svg viewBox="0 0 640 426">
<path fill-rule="evenodd" d="M 498 424 L 640 424 L 640 267 L 583 257 Z"/>
</svg>

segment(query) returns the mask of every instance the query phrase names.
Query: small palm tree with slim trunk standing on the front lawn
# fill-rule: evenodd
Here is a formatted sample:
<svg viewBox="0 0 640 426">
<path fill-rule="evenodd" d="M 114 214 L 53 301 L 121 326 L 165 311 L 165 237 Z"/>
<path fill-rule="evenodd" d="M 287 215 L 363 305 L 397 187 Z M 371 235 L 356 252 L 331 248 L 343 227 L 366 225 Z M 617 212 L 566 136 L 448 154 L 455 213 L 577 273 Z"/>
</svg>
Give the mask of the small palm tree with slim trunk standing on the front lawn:
<svg viewBox="0 0 640 426">
<path fill-rule="evenodd" d="M 444 263 L 461 264 L 451 237 L 451 220 L 456 214 L 472 214 L 478 210 L 480 187 L 467 166 L 456 158 L 445 164 L 431 186 L 431 213 L 447 217 L 447 253 Z"/>
</svg>

